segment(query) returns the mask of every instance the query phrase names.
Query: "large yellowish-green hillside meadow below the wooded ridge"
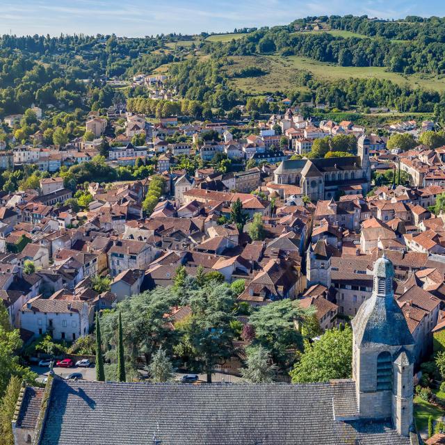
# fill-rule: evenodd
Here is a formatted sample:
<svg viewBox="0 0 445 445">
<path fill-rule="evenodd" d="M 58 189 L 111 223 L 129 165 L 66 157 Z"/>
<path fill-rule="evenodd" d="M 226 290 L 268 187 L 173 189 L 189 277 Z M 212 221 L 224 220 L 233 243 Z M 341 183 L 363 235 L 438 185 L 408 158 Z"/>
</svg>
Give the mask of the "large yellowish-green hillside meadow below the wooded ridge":
<svg viewBox="0 0 445 445">
<path fill-rule="evenodd" d="M 310 71 L 318 79 L 338 80 L 350 77 L 371 79 L 376 77 L 401 85 L 408 83 L 413 88 L 445 90 L 445 79 L 438 79 L 437 77 L 421 79 L 418 76 L 403 76 L 394 72 L 386 72 L 384 67 L 339 67 L 300 56 L 236 56 L 232 59 L 235 63 L 227 67 L 229 73 L 247 66 L 258 66 L 268 72 L 265 76 L 232 79 L 236 87 L 249 94 L 261 95 L 276 90 L 295 88 L 292 81 L 295 70 Z"/>
</svg>

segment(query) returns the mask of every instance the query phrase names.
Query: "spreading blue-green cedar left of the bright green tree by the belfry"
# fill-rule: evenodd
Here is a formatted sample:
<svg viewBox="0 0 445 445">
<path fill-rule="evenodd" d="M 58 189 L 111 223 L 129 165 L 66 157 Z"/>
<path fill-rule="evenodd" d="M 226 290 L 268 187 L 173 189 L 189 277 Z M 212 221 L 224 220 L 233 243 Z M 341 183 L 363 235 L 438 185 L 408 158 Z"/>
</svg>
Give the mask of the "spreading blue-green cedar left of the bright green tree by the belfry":
<svg viewBox="0 0 445 445">
<path fill-rule="evenodd" d="M 302 336 L 295 322 L 314 314 L 314 309 L 302 309 L 297 300 L 271 302 L 261 306 L 249 319 L 255 331 L 254 343 L 270 350 L 273 362 L 285 369 L 293 362 L 288 350 L 302 348 Z"/>
</svg>

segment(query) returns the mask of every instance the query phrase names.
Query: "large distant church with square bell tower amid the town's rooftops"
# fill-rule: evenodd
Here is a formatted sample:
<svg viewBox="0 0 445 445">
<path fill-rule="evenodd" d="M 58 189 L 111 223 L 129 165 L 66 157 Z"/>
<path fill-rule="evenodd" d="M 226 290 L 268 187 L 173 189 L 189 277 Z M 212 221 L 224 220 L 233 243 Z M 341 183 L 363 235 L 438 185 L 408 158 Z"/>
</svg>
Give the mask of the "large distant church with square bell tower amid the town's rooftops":
<svg viewBox="0 0 445 445">
<path fill-rule="evenodd" d="M 273 172 L 275 184 L 300 186 L 312 201 L 330 200 L 340 192 L 366 195 L 371 184 L 371 140 L 357 140 L 357 156 L 321 159 L 286 159 Z"/>
</svg>

